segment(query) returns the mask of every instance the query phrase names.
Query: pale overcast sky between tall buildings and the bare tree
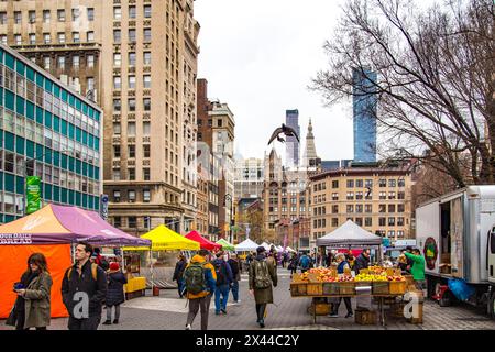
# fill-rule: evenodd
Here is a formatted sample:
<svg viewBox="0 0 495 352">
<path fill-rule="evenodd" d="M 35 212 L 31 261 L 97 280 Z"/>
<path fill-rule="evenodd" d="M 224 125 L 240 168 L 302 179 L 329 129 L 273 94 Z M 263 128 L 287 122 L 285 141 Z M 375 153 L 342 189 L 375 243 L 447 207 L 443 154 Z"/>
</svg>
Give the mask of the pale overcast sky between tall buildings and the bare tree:
<svg viewBox="0 0 495 352">
<path fill-rule="evenodd" d="M 300 157 L 309 118 L 322 160 L 353 157 L 352 102 L 326 108 L 307 89 L 327 67 L 330 38 L 344 0 L 197 0 L 201 25 L 198 77 L 208 96 L 227 102 L 235 119 L 235 151 L 263 157 L 285 110 L 299 110 Z M 285 146 L 275 142 L 279 152 Z"/>
</svg>

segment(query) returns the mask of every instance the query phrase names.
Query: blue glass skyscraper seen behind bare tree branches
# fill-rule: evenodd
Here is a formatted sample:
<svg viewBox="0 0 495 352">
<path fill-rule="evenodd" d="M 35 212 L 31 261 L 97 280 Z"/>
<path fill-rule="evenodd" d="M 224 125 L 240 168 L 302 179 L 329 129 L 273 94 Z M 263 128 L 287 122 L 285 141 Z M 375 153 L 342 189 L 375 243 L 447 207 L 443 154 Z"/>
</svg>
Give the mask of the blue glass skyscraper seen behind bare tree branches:
<svg viewBox="0 0 495 352">
<path fill-rule="evenodd" d="M 372 70 L 353 69 L 354 162 L 376 162 L 376 79 Z"/>
</svg>

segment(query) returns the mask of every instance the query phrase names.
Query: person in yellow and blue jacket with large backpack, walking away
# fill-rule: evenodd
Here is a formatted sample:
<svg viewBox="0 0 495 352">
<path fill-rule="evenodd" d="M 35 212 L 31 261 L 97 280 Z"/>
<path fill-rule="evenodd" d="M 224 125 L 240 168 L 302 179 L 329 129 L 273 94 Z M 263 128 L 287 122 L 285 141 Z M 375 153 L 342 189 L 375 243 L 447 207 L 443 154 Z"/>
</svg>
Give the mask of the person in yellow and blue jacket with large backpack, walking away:
<svg viewBox="0 0 495 352">
<path fill-rule="evenodd" d="M 216 289 L 217 275 L 211 263 L 207 262 L 207 250 L 200 250 L 193 256 L 184 271 L 187 298 L 189 299 L 189 315 L 187 316 L 186 330 L 191 330 L 198 310 L 201 308 L 201 330 L 208 329 L 208 314 L 211 296 Z"/>
</svg>

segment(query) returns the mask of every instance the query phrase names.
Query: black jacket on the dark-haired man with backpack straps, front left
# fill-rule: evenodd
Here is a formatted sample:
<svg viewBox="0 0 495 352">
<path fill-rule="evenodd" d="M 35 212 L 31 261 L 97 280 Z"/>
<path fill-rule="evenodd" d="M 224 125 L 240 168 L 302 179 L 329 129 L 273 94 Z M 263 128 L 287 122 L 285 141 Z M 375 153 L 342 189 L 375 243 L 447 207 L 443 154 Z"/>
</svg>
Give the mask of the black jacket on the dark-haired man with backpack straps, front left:
<svg viewBox="0 0 495 352">
<path fill-rule="evenodd" d="M 70 316 L 74 314 L 74 307 L 80 299 L 74 300 L 74 295 L 84 292 L 89 296 L 89 316 L 101 316 L 102 305 L 107 297 L 107 274 L 98 266 L 97 279 L 92 278 L 91 263 L 88 261 L 81 268 L 81 275 L 77 272 L 77 264 L 72 266 L 70 278 L 67 278 L 68 268 L 62 280 L 62 299 Z"/>
</svg>

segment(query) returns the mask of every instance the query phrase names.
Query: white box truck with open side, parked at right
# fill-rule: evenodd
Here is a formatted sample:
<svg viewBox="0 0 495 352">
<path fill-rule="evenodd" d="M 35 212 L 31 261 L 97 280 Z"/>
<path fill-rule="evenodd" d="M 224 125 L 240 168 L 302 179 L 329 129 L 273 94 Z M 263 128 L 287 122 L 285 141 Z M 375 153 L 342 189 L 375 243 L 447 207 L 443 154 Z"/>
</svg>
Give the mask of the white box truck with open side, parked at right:
<svg viewBox="0 0 495 352">
<path fill-rule="evenodd" d="M 475 289 L 468 302 L 486 306 L 495 319 L 495 185 L 469 186 L 416 209 L 416 240 L 425 255 L 428 296 L 455 300 L 449 278 Z"/>
</svg>

